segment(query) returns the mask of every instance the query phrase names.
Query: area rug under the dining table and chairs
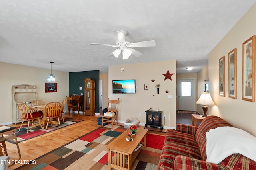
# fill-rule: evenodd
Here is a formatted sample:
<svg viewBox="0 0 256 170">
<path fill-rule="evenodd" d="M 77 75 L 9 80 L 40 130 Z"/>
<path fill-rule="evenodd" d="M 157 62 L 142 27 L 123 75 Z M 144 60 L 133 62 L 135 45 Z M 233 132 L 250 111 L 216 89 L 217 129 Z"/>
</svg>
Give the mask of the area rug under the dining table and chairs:
<svg viewBox="0 0 256 170">
<path fill-rule="evenodd" d="M 60 123 L 60 126 L 59 125 L 54 125 L 54 124 L 48 125 L 47 130 L 41 129 L 40 126 L 37 126 L 37 127 L 30 126 L 29 133 L 27 133 L 28 127 L 26 125 L 22 126 L 21 129 L 20 129 L 20 126 L 16 127 L 16 129 L 17 129 L 16 130 L 17 140 L 20 143 L 20 142 L 26 141 L 28 139 L 43 135 L 45 133 L 55 131 L 55 130 L 60 129 L 62 127 L 66 127 L 68 125 L 78 123 L 78 122 L 83 121 L 83 120 L 72 119 L 72 118 L 64 118 L 64 121 L 65 121 L 64 123 L 63 122 Z M 20 132 L 18 132 L 19 129 L 20 129 Z M 16 143 L 14 135 L 13 135 L 12 132 L 4 134 L 4 137 L 6 138 L 6 141 L 8 141 L 10 143 L 14 143 L 14 144 Z"/>
</svg>

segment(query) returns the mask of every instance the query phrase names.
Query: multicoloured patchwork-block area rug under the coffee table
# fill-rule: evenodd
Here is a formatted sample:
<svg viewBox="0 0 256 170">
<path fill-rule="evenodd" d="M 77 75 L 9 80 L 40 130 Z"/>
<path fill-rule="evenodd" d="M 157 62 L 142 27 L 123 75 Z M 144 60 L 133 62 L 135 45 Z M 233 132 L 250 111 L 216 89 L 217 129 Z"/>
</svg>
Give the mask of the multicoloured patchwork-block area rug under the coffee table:
<svg viewBox="0 0 256 170">
<path fill-rule="evenodd" d="M 107 170 L 108 149 L 106 145 L 124 131 L 126 129 L 123 126 L 115 126 L 114 130 L 107 127 L 98 128 L 36 158 L 35 164 L 25 164 L 16 170 Z M 154 140 L 163 145 L 164 135 L 147 134 L 147 150 L 140 150 L 132 164 L 132 170 L 158 169 L 162 148 L 156 149 L 159 146 L 152 144 Z"/>
</svg>

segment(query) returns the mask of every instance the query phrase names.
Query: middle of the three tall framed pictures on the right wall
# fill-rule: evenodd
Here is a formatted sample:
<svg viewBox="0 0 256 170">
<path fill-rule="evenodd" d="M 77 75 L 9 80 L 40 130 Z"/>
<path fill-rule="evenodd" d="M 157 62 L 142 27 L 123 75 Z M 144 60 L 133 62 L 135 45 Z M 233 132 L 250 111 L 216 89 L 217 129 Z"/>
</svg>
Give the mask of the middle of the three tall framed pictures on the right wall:
<svg viewBox="0 0 256 170">
<path fill-rule="evenodd" d="M 236 99 L 236 48 L 228 53 L 228 98 Z"/>
</svg>

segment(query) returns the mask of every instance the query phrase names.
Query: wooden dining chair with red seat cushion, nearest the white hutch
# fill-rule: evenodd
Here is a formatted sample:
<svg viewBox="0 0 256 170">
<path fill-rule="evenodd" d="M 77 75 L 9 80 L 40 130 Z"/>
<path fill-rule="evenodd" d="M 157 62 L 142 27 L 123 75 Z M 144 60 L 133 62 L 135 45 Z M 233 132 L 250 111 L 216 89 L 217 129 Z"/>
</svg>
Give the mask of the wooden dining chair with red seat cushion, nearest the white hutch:
<svg viewBox="0 0 256 170">
<path fill-rule="evenodd" d="M 35 127 L 35 122 L 38 122 L 42 128 L 42 124 L 40 121 L 40 117 L 42 116 L 41 113 L 31 112 L 28 105 L 23 104 L 23 103 L 19 103 L 17 107 L 18 107 L 21 117 L 22 117 L 21 118 L 22 123 L 20 125 L 20 129 L 21 129 L 22 125 L 27 125 L 28 126 L 27 133 L 28 133 L 30 124 L 32 124 L 33 127 Z M 19 131 L 20 131 L 20 129 L 19 129 Z"/>
</svg>

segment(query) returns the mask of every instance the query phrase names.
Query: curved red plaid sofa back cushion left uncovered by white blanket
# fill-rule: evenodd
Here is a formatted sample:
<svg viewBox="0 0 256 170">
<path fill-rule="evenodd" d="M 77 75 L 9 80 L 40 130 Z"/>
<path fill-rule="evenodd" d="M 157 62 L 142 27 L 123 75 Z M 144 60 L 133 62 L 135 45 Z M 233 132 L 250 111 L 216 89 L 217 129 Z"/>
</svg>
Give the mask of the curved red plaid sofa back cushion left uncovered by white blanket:
<svg viewBox="0 0 256 170">
<path fill-rule="evenodd" d="M 223 119 L 217 116 L 207 116 L 198 126 L 196 131 L 196 141 L 198 143 L 198 147 L 201 151 L 202 160 L 206 161 L 206 132 L 210 129 L 215 129 L 216 127 L 223 126 L 231 126 L 231 124 L 227 123 Z"/>
</svg>

